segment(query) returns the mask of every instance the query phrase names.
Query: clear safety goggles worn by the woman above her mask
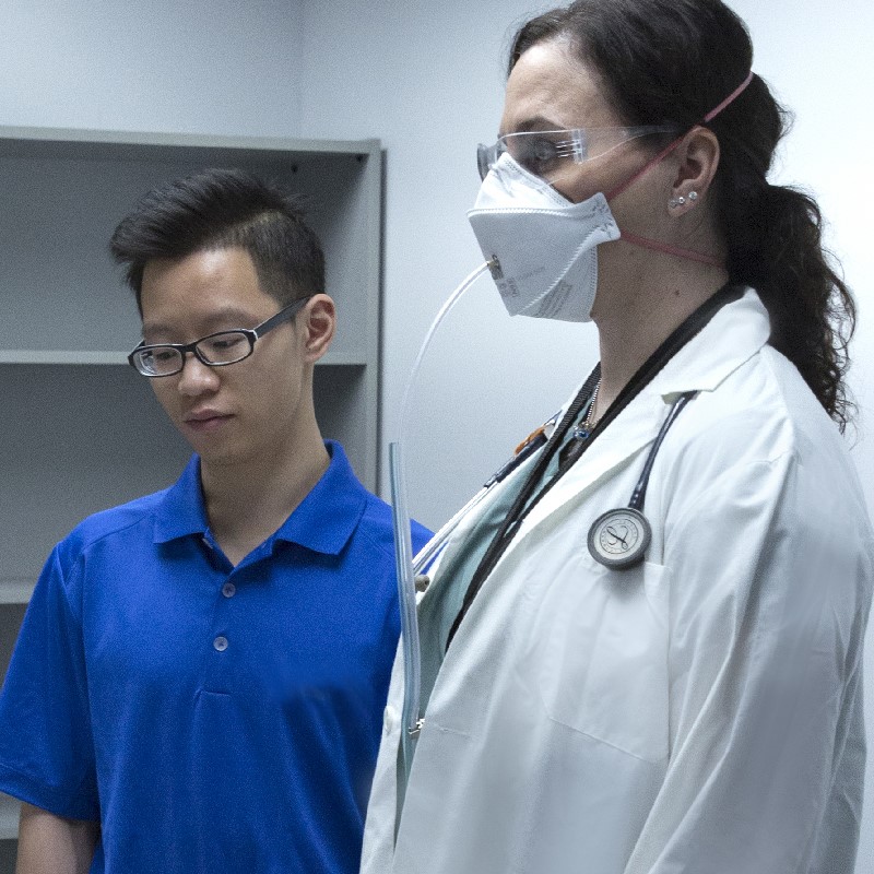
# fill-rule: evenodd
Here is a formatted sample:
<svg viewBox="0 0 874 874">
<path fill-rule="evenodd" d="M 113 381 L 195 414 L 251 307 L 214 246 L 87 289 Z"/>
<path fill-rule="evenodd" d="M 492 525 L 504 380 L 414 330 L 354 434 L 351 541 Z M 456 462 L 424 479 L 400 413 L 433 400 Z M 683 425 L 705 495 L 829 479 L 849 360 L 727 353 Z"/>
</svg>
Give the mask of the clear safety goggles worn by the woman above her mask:
<svg viewBox="0 0 874 874">
<path fill-rule="evenodd" d="M 601 157 L 629 140 L 652 133 L 678 133 L 675 125 L 643 125 L 635 128 L 575 128 L 572 130 L 531 130 L 505 133 L 494 145 L 476 150 L 480 178 L 485 179 L 498 158 L 510 157 L 529 173 L 548 181 L 562 175 L 570 164 Z"/>
</svg>

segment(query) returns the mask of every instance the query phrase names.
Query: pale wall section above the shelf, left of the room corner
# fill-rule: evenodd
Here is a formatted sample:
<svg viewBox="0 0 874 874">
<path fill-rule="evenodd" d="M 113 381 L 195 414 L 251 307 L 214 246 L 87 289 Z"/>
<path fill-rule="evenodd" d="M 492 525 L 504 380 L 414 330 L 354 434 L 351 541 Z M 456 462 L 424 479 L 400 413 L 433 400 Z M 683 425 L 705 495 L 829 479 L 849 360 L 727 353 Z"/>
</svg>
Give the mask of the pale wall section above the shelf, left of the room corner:
<svg viewBox="0 0 874 874">
<path fill-rule="evenodd" d="M 297 8 L 2 0 L 0 125 L 296 137 Z"/>
</svg>

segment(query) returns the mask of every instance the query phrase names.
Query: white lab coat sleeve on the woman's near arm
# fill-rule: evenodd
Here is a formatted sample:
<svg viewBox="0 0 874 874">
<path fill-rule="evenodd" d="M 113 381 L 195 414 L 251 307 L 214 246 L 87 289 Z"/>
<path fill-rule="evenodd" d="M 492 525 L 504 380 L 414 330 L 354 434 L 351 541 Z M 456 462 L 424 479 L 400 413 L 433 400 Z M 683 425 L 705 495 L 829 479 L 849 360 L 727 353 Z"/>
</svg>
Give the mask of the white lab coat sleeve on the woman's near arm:
<svg viewBox="0 0 874 874">
<path fill-rule="evenodd" d="M 739 466 L 665 529 L 671 752 L 626 874 L 852 870 L 870 528 L 822 466 Z"/>
</svg>

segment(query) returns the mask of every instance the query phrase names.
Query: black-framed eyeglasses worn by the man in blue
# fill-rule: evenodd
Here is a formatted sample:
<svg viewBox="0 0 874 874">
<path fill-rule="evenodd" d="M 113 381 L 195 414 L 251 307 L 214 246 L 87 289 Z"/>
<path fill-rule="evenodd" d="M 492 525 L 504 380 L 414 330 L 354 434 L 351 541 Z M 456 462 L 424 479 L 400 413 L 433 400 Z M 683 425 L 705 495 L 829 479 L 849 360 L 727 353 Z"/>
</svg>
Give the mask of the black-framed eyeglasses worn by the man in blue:
<svg viewBox="0 0 874 874">
<path fill-rule="evenodd" d="M 140 343 L 128 355 L 128 364 L 138 374 L 150 378 L 173 376 L 185 367 L 185 356 L 191 352 L 201 364 L 209 367 L 224 367 L 248 358 L 255 352 L 255 341 L 262 338 L 276 326 L 294 318 L 297 311 L 312 295 L 295 300 L 275 316 L 262 321 L 256 328 L 237 328 L 233 331 L 218 331 L 202 336 L 193 343 Z"/>
</svg>

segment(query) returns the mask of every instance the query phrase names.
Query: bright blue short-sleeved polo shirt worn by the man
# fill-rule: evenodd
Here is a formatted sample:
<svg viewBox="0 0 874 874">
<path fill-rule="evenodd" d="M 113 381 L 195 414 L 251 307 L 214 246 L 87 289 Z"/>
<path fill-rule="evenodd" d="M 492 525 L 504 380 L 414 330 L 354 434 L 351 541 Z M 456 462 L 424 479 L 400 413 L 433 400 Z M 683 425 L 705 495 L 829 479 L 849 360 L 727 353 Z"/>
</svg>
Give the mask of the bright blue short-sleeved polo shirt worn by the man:
<svg viewBox="0 0 874 874">
<path fill-rule="evenodd" d="M 389 507 L 327 446 L 328 471 L 236 568 L 197 457 L 46 563 L 0 696 L 0 790 L 99 819 L 92 872 L 357 872 L 394 553 Z"/>
</svg>

